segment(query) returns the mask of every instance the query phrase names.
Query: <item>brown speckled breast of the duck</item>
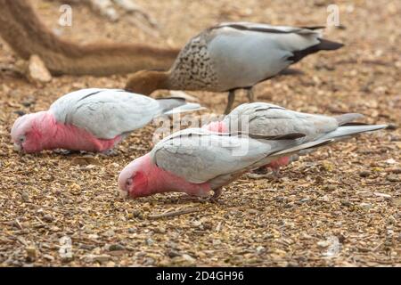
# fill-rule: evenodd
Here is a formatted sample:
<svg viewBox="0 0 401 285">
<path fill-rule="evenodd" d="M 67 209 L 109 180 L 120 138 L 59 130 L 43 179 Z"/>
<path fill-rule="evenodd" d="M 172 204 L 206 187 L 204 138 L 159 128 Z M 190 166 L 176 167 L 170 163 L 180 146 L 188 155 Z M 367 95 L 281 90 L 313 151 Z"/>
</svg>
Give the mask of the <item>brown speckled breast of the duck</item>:
<svg viewBox="0 0 401 285">
<path fill-rule="evenodd" d="M 203 35 L 192 38 L 178 54 L 171 79 L 180 89 L 218 91 L 217 73 Z"/>
</svg>

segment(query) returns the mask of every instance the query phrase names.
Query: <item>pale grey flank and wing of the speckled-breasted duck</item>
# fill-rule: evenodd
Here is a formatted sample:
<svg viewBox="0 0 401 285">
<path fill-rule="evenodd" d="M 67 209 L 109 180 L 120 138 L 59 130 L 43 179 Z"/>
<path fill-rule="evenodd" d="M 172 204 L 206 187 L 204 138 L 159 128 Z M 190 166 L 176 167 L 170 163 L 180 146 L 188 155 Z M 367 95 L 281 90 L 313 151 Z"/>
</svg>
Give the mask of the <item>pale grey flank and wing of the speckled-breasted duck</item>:
<svg viewBox="0 0 401 285">
<path fill-rule="evenodd" d="M 267 31 L 239 29 L 232 23 L 209 30 L 208 51 L 221 90 L 248 87 L 274 77 L 291 65 L 293 52 L 320 43 L 320 34 L 313 30 L 306 33 L 301 32 L 302 28 L 293 28 L 293 32 L 272 32 L 267 27 Z"/>
</svg>

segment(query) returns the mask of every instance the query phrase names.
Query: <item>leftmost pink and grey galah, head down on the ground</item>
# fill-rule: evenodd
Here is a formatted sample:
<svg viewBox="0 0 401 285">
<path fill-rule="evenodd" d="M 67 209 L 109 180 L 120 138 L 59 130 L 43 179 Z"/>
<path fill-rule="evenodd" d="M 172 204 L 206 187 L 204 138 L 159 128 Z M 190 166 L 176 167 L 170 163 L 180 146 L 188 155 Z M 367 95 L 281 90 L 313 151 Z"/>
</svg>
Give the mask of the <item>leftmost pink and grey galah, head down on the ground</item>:
<svg viewBox="0 0 401 285">
<path fill-rule="evenodd" d="M 118 89 L 82 89 L 65 94 L 49 110 L 24 115 L 12 126 L 16 150 L 108 151 L 153 118 L 201 110 L 180 98 L 152 99 Z"/>
</svg>

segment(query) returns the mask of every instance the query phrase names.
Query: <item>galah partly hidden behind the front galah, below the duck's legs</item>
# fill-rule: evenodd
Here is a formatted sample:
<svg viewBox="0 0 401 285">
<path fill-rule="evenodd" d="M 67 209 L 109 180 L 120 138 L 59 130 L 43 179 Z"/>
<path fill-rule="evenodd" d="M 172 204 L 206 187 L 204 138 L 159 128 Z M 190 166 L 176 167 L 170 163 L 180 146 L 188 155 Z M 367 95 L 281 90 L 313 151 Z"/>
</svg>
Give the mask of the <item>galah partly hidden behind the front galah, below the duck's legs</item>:
<svg viewBox="0 0 401 285">
<path fill-rule="evenodd" d="M 250 134 L 266 136 L 299 133 L 305 134 L 298 139 L 299 142 L 311 142 L 319 139 L 345 139 L 383 127 L 354 122 L 363 117 L 356 113 L 329 117 L 286 110 L 266 102 L 254 102 L 241 104 L 222 121 L 212 122 L 203 128 L 219 133 L 250 132 Z M 266 167 L 272 168 L 274 175 L 278 175 L 280 167 L 297 160 L 299 154 L 305 153 L 306 151 L 300 151 L 298 154 L 278 158 Z"/>
</svg>

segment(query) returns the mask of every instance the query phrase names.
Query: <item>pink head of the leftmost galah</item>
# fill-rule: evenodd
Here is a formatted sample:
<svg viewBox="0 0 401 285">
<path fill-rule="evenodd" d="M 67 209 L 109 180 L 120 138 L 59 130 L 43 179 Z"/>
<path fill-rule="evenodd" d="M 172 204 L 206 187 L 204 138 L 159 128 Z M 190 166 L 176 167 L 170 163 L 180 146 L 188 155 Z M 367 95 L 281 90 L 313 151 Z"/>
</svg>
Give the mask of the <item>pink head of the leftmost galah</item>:
<svg viewBox="0 0 401 285">
<path fill-rule="evenodd" d="M 12 126 L 12 142 L 17 151 L 42 151 L 43 145 L 53 136 L 55 120 L 47 111 L 27 114 L 17 118 Z"/>
</svg>

